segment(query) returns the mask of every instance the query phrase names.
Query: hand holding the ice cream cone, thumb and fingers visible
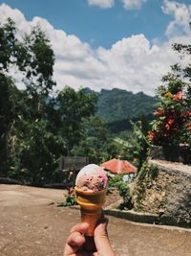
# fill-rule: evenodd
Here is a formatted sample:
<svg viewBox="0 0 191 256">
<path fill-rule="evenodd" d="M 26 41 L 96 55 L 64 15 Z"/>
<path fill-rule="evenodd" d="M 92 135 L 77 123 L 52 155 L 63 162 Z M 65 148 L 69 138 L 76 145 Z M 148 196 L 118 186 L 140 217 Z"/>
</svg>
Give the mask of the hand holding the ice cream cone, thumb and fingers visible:
<svg viewBox="0 0 191 256">
<path fill-rule="evenodd" d="M 64 256 L 115 256 L 107 235 L 107 220 L 102 218 L 96 225 L 95 236 L 85 237 L 89 224 L 78 223 L 71 229 Z"/>
</svg>

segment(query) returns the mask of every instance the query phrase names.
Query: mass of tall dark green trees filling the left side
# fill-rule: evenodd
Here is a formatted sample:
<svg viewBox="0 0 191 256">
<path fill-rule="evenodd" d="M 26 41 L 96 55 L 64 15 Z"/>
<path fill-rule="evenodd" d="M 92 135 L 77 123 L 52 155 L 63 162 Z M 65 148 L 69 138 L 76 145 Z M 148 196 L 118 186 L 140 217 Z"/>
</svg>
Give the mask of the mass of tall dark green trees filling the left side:
<svg viewBox="0 0 191 256">
<path fill-rule="evenodd" d="M 59 157 L 70 154 L 83 119 L 95 112 L 96 95 L 66 87 L 53 98 L 53 50 L 41 28 L 19 41 L 9 19 L 0 35 L 0 175 L 53 182 Z M 8 76 L 12 65 L 23 76 L 23 90 Z"/>
</svg>

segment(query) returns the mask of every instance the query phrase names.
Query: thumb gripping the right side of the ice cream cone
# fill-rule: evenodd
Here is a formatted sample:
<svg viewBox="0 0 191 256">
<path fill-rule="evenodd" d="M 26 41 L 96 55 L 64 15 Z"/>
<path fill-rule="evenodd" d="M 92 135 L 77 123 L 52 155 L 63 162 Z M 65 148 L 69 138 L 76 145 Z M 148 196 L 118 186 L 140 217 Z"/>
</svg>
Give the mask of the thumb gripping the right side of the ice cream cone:
<svg viewBox="0 0 191 256">
<path fill-rule="evenodd" d="M 95 229 L 95 244 L 98 255 L 100 256 L 115 256 L 115 253 L 110 244 L 107 233 L 108 220 L 102 218 L 96 225 Z"/>
</svg>

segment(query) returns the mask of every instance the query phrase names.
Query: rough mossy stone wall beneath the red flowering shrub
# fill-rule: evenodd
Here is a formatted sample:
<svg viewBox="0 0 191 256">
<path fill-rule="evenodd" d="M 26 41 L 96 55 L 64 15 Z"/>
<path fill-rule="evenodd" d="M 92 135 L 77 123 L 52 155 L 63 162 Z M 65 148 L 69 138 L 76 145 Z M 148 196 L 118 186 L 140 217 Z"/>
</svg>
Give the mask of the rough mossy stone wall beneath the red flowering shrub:
<svg viewBox="0 0 191 256">
<path fill-rule="evenodd" d="M 149 160 L 155 175 L 145 172 L 134 187 L 135 209 L 158 214 L 191 227 L 191 166 L 164 160 Z"/>
</svg>

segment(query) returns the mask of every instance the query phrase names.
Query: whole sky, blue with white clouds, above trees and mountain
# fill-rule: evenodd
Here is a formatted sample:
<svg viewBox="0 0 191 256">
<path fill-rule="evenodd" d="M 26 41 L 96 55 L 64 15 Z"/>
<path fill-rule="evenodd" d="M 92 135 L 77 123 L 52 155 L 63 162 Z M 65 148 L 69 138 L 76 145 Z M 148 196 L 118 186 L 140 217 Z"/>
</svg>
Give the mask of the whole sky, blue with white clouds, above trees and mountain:
<svg viewBox="0 0 191 256">
<path fill-rule="evenodd" d="M 153 95 L 161 76 L 178 59 L 170 49 L 172 41 L 186 41 L 190 36 L 190 0 L 0 3 L 4 3 L 0 6 L 1 22 L 10 15 L 21 33 L 29 32 L 36 22 L 45 28 L 55 53 L 58 89 L 65 84 L 76 89 L 118 87 Z"/>
</svg>

